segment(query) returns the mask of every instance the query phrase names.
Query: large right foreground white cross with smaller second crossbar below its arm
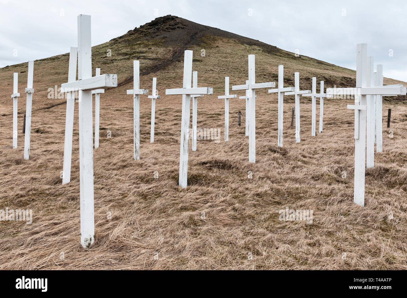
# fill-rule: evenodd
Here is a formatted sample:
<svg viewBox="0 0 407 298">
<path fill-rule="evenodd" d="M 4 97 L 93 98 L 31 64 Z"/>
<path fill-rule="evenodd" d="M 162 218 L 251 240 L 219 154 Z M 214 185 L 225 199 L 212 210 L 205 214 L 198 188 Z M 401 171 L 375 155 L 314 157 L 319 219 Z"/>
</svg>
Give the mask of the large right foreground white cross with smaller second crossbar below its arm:
<svg viewBox="0 0 407 298">
<path fill-rule="evenodd" d="M 404 86 L 374 86 L 368 87 L 368 45 L 357 45 L 356 59 L 356 88 L 327 88 L 330 95 L 352 94 L 355 105 L 348 108 L 355 109 L 355 165 L 354 165 L 354 194 L 353 201 L 357 205 L 365 205 L 365 157 L 366 157 L 366 109 L 370 104 L 367 95 L 406 95 Z"/>
</svg>

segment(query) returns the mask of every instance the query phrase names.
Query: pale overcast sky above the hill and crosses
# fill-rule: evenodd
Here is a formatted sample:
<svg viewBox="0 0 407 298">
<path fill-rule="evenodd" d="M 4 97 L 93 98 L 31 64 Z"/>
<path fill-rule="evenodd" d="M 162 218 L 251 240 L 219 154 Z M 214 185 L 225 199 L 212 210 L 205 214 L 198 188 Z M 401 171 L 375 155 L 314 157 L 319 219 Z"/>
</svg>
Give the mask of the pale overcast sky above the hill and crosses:
<svg viewBox="0 0 407 298">
<path fill-rule="evenodd" d="M 92 16 L 92 46 L 171 14 L 351 69 L 356 44 L 368 43 L 384 76 L 407 82 L 406 3 L 0 0 L 0 67 L 67 53 L 81 13 Z"/>
</svg>

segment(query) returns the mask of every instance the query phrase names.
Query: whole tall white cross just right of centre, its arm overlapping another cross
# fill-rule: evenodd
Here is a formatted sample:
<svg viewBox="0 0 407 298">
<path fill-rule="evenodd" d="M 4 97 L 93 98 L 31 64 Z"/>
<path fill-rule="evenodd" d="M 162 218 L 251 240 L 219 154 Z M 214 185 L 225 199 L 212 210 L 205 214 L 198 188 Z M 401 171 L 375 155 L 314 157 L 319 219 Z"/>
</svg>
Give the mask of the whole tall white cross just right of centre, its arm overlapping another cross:
<svg viewBox="0 0 407 298">
<path fill-rule="evenodd" d="M 256 83 L 254 55 L 249 55 L 249 82 L 245 85 L 232 86 L 232 90 L 248 90 L 249 162 L 256 162 L 256 89 L 274 88 L 275 86 L 275 82 Z"/>
</svg>

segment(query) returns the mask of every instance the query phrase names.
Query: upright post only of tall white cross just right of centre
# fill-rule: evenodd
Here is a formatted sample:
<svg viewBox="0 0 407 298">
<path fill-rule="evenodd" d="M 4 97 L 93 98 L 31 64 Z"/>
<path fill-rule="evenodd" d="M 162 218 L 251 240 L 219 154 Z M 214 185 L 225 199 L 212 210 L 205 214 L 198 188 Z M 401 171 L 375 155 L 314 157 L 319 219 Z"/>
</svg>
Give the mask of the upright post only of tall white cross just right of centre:
<svg viewBox="0 0 407 298">
<path fill-rule="evenodd" d="M 256 70 L 254 55 L 249 55 L 249 162 L 256 162 Z"/>
</svg>

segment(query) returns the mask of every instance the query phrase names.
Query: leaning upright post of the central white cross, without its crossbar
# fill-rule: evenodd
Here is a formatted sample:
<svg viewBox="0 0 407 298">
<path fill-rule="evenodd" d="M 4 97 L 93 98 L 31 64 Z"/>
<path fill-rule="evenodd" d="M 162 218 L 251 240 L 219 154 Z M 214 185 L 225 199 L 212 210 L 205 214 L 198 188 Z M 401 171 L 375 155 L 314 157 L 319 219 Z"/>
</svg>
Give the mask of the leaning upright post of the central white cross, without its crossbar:
<svg viewBox="0 0 407 298">
<path fill-rule="evenodd" d="M 186 50 L 184 53 L 184 80 L 182 88 L 191 88 L 192 75 L 192 51 Z M 179 181 L 182 188 L 186 188 L 188 179 L 188 143 L 189 143 L 189 119 L 190 119 L 191 95 L 182 95 L 182 116 L 181 116 L 181 146 L 179 152 Z"/>
</svg>

